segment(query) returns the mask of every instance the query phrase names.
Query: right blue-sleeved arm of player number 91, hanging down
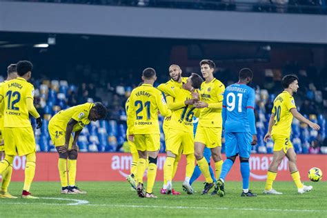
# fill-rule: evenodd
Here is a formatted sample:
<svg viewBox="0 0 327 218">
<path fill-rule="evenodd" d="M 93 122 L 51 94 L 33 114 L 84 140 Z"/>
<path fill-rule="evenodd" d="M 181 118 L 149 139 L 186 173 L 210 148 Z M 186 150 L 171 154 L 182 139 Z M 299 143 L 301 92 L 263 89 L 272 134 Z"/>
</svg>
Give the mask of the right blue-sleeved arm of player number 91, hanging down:
<svg viewBox="0 0 327 218">
<path fill-rule="evenodd" d="M 248 123 L 250 125 L 250 132 L 252 134 L 251 145 L 257 144 L 257 128 L 255 128 L 255 90 L 250 89 L 248 102 L 246 103 L 246 115 L 248 117 Z"/>
</svg>

